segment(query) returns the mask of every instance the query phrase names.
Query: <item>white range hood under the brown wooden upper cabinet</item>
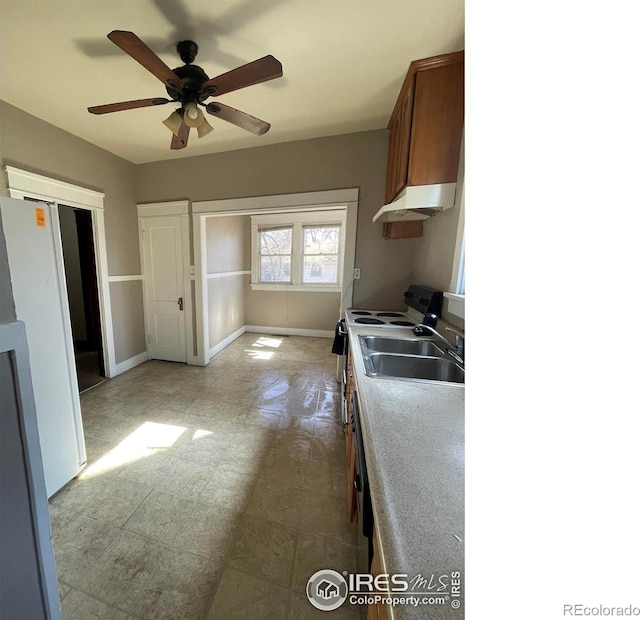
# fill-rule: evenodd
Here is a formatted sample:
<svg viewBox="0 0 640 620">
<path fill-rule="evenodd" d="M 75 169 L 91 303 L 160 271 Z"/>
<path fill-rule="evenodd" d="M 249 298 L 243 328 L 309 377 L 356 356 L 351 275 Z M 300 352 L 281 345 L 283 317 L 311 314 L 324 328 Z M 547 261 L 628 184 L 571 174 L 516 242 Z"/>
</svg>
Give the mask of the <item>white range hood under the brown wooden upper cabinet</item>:
<svg viewBox="0 0 640 620">
<path fill-rule="evenodd" d="M 426 220 L 440 211 L 453 207 L 456 198 L 455 183 L 435 185 L 409 185 L 396 200 L 384 205 L 373 216 L 377 222 L 409 222 Z"/>
</svg>

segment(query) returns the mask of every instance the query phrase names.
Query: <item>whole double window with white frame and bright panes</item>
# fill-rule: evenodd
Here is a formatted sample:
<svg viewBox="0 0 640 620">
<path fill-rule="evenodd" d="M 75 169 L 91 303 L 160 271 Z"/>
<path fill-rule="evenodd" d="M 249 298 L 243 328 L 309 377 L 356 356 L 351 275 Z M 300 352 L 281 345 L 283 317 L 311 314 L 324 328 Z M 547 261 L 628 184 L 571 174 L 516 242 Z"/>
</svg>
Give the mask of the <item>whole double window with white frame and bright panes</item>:
<svg viewBox="0 0 640 620">
<path fill-rule="evenodd" d="M 251 217 L 253 289 L 340 291 L 344 209 Z"/>
</svg>

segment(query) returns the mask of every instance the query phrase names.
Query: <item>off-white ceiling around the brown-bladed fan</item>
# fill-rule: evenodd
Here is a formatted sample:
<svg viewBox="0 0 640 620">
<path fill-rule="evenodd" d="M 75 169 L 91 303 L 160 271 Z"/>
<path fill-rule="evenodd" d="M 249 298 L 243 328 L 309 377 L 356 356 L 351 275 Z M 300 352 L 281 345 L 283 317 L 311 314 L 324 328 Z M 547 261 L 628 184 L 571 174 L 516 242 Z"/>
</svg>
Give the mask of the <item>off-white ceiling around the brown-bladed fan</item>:
<svg viewBox="0 0 640 620">
<path fill-rule="evenodd" d="M 208 116 L 212 133 L 172 151 L 162 120 L 174 106 L 89 114 L 166 97 L 112 30 L 134 32 L 171 68 L 182 65 L 175 43 L 195 40 L 210 77 L 274 55 L 282 78 L 219 98 L 271 130 Z M 386 127 L 409 63 L 463 47 L 464 0 L 1 0 L 0 98 L 144 163 Z"/>
</svg>

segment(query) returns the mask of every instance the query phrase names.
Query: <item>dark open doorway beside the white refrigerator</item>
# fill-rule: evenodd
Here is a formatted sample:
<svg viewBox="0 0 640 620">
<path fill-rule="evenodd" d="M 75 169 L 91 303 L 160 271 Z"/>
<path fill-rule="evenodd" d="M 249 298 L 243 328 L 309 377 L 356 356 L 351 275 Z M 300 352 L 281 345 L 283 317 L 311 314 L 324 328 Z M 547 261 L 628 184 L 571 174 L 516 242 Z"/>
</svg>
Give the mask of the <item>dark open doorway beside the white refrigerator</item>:
<svg viewBox="0 0 640 620">
<path fill-rule="evenodd" d="M 105 380 L 91 211 L 58 205 L 80 392 Z"/>
</svg>

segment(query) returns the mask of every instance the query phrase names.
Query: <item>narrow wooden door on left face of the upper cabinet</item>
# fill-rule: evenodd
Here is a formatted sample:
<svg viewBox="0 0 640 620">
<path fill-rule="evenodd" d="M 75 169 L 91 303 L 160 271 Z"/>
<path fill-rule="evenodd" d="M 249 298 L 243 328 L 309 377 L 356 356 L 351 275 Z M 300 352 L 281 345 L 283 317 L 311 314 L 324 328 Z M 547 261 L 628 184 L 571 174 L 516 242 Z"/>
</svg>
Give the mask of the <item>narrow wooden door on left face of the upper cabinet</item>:
<svg viewBox="0 0 640 620">
<path fill-rule="evenodd" d="M 387 183 L 385 202 L 392 202 L 407 184 L 409 144 L 413 114 L 413 84 L 409 86 L 396 112 L 389 121 Z"/>
</svg>

